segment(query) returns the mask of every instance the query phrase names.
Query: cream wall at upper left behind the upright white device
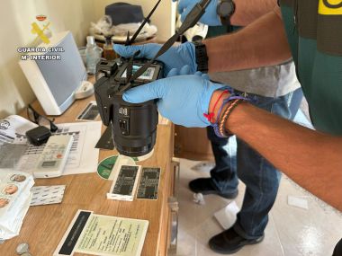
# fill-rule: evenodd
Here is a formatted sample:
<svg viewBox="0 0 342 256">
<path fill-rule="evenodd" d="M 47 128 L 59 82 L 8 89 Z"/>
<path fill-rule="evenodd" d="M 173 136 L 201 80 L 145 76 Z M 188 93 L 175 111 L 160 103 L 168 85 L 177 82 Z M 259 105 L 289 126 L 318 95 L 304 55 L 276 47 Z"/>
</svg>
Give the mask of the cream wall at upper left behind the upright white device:
<svg viewBox="0 0 342 256">
<path fill-rule="evenodd" d="M 31 46 L 35 39 L 31 34 L 31 22 L 37 22 L 38 14 L 47 16 L 52 34 L 72 31 L 76 43 L 84 45 L 88 26 L 94 21 L 94 0 L 0 2 L 0 118 L 18 113 L 35 99 L 18 65 L 20 54 L 17 49 Z"/>
</svg>

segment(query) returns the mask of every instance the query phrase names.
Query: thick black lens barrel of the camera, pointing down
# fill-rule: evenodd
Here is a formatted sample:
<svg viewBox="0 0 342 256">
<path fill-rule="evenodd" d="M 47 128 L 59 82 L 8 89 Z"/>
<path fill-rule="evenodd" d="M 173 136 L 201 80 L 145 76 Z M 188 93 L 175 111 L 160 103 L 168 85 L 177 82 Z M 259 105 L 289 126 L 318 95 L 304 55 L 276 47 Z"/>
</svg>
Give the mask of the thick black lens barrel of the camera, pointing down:
<svg viewBox="0 0 342 256">
<path fill-rule="evenodd" d="M 128 156 L 148 154 L 156 144 L 156 102 L 132 104 L 123 101 L 122 95 L 113 95 L 112 105 L 112 136 L 116 149 Z"/>
</svg>

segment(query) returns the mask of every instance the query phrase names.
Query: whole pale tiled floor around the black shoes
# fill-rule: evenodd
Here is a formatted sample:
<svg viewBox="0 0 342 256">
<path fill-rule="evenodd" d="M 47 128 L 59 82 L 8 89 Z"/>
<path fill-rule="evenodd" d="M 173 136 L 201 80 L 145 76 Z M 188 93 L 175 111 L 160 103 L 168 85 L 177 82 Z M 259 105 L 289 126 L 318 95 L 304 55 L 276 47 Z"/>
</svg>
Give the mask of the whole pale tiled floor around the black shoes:
<svg viewBox="0 0 342 256">
<path fill-rule="evenodd" d="M 198 162 L 181 160 L 179 181 L 179 230 L 177 256 L 221 255 L 211 252 L 207 243 L 212 235 L 223 229 L 213 214 L 229 204 L 228 199 L 205 196 L 205 205 L 193 202 L 188 182 L 198 177 L 208 177 L 210 167 L 202 171 L 191 168 Z M 205 170 L 206 169 L 206 170 Z M 241 206 L 244 184 L 238 185 L 236 202 Z M 288 195 L 306 196 L 309 209 L 287 204 Z M 271 210 L 266 237 L 262 243 L 248 245 L 237 256 L 329 256 L 342 237 L 342 214 L 302 190 L 284 177 L 275 206 Z"/>
</svg>

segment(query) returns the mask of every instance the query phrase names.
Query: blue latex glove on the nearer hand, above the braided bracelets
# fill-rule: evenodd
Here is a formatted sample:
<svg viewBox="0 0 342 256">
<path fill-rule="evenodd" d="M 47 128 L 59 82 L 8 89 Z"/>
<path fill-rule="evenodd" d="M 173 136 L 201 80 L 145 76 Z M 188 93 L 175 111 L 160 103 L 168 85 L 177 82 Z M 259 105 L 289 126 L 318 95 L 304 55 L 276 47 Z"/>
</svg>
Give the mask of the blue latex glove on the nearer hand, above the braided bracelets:
<svg viewBox="0 0 342 256">
<path fill-rule="evenodd" d="M 159 112 L 172 122 L 184 127 L 203 128 L 211 123 L 203 116 L 208 113 L 211 95 L 223 87 L 209 80 L 201 72 L 195 75 L 176 75 L 137 86 L 123 94 L 131 103 L 157 101 Z"/>
</svg>

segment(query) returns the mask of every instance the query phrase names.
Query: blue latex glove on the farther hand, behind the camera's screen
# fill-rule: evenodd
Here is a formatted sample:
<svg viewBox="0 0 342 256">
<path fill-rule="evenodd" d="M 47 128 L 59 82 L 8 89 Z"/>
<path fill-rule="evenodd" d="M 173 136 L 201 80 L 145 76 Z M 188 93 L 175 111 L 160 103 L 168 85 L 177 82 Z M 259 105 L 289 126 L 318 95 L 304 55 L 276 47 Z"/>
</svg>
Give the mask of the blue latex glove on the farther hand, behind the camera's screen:
<svg viewBox="0 0 342 256">
<path fill-rule="evenodd" d="M 145 57 L 148 59 L 155 57 L 160 48 L 161 45 L 157 43 L 137 46 L 114 45 L 114 51 L 121 57 L 131 57 L 136 51 L 140 50 L 137 58 Z M 191 42 L 185 42 L 179 46 L 171 47 L 162 56 L 157 57 L 157 60 L 164 63 L 164 76 L 167 76 L 172 68 L 181 69 L 183 66 L 189 66 L 190 74 L 194 74 L 197 70 L 194 45 Z"/>
</svg>

